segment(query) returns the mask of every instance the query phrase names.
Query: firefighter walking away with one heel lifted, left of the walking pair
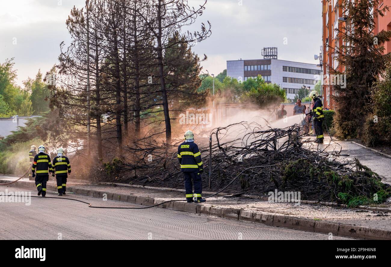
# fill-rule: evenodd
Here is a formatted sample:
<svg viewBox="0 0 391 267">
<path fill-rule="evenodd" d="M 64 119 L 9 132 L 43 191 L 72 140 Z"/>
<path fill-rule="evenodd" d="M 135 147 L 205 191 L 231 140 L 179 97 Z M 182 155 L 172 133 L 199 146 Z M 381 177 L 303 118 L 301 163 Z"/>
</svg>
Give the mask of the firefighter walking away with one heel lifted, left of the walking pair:
<svg viewBox="0 0 391 267">
<path fill-rule="evenodd" d="M 35 185 L 38 196 L 46 196 L 46 183 L 49 180 L 49 173 L 52 172 L 52 162 L 50 156 L 45 153 L 45 146 L 38 147 L 38 154 L 32 162 L 32 177 L 35 177 Z M 37 173 L 37 174 L 35 174 Z"/>
</svg>

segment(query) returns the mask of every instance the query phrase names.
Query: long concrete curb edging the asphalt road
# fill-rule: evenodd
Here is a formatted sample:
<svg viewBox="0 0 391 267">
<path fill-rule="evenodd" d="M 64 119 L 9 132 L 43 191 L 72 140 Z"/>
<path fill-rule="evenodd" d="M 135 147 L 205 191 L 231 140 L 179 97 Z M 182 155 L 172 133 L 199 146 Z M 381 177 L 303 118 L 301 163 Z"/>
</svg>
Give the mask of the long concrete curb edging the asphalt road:
<svg viewBox="0 0 391 267">
<path fill-rule="evenodd" d="M 7 182 L 7 180 L 0 180 L 0 183 Z M 33 183 L 30 182 L 16 182 L 18 186 L 35 188 Z M 48 185 L 48 190 L 57 190 L 54 185 Z M 75 194 L 81 194 L 84 196 L 92 196 L 96 198 L 124 201 L 127 203 L 133 203 L 138 205 L 152 206 L 160 204 L 165 200 L 147 198 L 143 196 L 125 195 L 102 192 L 97 190 L 80 189 L 74 186 L 67 187 L 69 192 Z M 106 195 L 105 195 L 106 194 Z M 391 230 L 381 228 L 371 228 L 368 226 L 357 226 L 349 224 L 340 224 L 336 222 L 327 221 L 314 221 L 310 219 L 303 219 L 299 217 L 291 217 L 285 215 L 273 215 L 264 214 L 259 212 L 252 212 L 248 210 L 241 210 L 235 208 L 219 208 L 215 206 L 203 206 L 194 203 L 185 203 L 182 201 L 173 201 L 165 203 L 161 208 L 167 208 L 171 210 L 178 210 L 183 212 L 191 212 L 197 214 L 212 215 L 216 217 L 222 217 L 227 219 L 233 219 L 236 221 L 254 222 L 255 224 L 265 224 L 268 226 L 284 227 L 290 229 L 296 229 L 301 231 L 309 231 L 315 233 L 332 233 L 332 235 L 353 237 L 358 239 L 376 239 L 376 240 L 391 240 Z"/>
</svg>

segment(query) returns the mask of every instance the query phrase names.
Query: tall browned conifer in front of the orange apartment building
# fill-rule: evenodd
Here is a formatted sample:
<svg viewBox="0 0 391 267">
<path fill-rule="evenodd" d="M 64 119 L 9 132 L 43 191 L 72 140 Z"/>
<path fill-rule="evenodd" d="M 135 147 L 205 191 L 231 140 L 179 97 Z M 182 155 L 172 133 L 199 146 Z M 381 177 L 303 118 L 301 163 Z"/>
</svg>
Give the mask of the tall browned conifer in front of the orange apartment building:
<svg viewBox="0 0 391 267">
<path fill-rule="evenodd" d="M 378 0 L 351 2 L 343 0 L 346 23 L 335 32 L 343 39 L 343 45 L 335 47 L 335 59 L 344 66 L 343 73 L 331 69 L 332 75 L 346 75 L 346 88 L 334 85 L 334 127 L 337 137 L 359 137 L 365 116 L 370 112 L 370 89 L 379 72 L 384 70 L 387 55 L 382 46 L 391 37 L 391 31 L 373 34 L 378 16 L 384 16 L 389 7 L 377 9 Z M 332 47 L 330 46 L 330 49 Z"/>
</svg>

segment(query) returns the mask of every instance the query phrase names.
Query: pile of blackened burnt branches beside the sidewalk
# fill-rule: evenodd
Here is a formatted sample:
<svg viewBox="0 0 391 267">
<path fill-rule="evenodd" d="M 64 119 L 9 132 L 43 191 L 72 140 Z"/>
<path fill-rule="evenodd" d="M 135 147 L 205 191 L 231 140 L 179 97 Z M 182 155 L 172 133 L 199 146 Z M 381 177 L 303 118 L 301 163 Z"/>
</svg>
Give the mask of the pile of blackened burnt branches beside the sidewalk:
<svg viewBox="0 0 391 267">
<path fill-rule="evenodd" d="M 358 160 L 343 159 L 330 144 L 310 142 L 301 130 L 299 125 L 280 129 L 241 122 L 213 129 L 211 142 L 208 134 L 196 138 L 204 190 L 217 191 L 230 184 L 223 192 L 264 195 L 277 189 L 301 192 L 303 199 L 344 203 L 357 196 L 388 195 L 389 189 L 376 173 Z M 126 147 L 131 158 L 115 163 L 117 169 L 108 166 L 126 182 L 182 188 L 177 159 L 181 142 L 172 146 L 136 143 Z"/>
</svg>

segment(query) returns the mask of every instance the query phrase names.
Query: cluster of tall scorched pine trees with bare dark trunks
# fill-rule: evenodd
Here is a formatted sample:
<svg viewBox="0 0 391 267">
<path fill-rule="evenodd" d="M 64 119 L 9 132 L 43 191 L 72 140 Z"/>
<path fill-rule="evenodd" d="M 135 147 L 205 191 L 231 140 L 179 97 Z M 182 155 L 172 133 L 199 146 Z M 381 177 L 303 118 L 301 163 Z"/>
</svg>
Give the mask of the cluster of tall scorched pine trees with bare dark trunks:
<svg viewBox="0 0 391 267">
<path fill-rule="evenodd" d="M 191 48 L 210 36 L 211 25 L 188 30 L 205 4 L 90 0 L 74 7 L 66 21 L 72 42 L 61 44 L 49 86 L 63 129 L 57 140 L 74 146 L 82 140 L 99 158 L 102 150 L 121 154 L 129 142 L 155 136 L 171 144 L 176 112 L 206 99 L 197 92 L 206 55 L 200 59 Z"/>
</svg>

